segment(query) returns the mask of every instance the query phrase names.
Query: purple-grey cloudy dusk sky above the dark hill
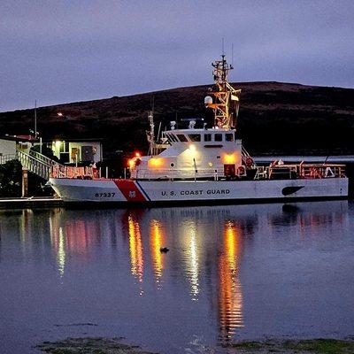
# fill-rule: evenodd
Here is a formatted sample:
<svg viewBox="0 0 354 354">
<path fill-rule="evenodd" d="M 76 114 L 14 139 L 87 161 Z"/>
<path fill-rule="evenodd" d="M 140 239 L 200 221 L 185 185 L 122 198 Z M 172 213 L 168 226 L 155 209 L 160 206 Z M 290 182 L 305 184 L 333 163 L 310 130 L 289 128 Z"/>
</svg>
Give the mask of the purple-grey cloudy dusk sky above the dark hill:
<svg viewBox="0 0 354 354">
<path fill-rule="evenodd" d="M 354 1 L 0 2 L 0 112 L 212 82 L 354 87 Z"/>
</svg>

